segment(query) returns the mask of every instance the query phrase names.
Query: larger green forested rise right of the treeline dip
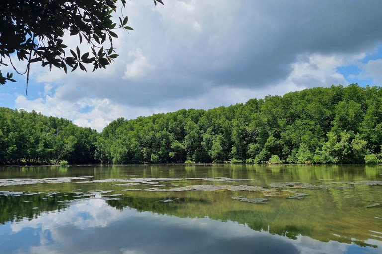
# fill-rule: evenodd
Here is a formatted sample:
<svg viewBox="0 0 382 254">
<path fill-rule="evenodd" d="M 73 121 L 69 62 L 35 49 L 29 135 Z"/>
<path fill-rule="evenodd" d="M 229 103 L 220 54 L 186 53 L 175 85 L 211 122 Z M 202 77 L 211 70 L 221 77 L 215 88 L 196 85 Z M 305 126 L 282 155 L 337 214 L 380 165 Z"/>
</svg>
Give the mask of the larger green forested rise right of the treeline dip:
<svg viewBox="0 0 382 254">
<path fill-rule="evenodd" d="M 311 88 L 210 110 L 181 109 L 118 119 L 97 141 L 97 158 L 110 163 L 365 163 L 380 154 L 380 87 Z M 118 155 L 118 156 L 116 156 Z"/>
</svg>

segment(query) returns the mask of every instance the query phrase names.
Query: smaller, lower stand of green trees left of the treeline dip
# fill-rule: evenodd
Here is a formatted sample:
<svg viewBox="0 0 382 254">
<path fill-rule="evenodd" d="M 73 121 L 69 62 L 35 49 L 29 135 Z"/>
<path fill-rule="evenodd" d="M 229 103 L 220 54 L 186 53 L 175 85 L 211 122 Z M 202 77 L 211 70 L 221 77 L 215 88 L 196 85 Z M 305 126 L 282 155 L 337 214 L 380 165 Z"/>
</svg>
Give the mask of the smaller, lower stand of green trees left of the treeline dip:
<svg viewBox="0 0 382 254">
<path fill-rule="evenodd" d="M 97 135 L 63 118 L 0 108 L 0 164 L 95 163 Z"/>
</svg>

